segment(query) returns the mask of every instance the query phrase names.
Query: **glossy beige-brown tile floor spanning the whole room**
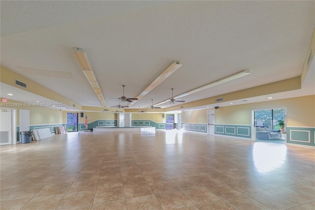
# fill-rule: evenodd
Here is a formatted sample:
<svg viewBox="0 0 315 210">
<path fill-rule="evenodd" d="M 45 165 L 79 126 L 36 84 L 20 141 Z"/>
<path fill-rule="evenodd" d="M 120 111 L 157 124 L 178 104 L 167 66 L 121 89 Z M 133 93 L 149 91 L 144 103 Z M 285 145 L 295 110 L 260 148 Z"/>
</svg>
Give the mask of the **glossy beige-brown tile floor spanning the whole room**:
<svg viewBox="0 0 315 210">
<path fill-rule="evenodd" d="M 1 210 L 315 210 L 315 150 L 185 131 L 0 146 Z"/>
</svg>

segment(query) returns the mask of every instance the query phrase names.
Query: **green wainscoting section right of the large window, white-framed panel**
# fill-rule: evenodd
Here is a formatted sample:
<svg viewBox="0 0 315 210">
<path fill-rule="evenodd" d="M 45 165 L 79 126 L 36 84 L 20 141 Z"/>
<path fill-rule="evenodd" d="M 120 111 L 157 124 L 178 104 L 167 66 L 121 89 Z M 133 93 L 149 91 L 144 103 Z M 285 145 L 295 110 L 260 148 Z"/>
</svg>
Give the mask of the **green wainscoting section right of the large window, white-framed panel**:
<svg viewBox="0 0 315 210">
<path fill-rule="evenodd" d="M 315 146 L 315 128 L 287 127 L 286 139 L 287 143 Z"/>
</svg>

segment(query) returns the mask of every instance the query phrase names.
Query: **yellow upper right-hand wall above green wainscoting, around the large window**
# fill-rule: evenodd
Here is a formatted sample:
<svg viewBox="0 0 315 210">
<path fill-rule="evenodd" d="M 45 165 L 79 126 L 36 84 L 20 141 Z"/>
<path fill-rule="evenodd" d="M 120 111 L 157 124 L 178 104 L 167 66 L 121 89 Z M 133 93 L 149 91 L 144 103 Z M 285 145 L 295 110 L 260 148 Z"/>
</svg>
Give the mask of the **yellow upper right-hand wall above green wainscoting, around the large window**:
<svg viewBox="0 0 315 210">
<path fill-rule="evenodd" d="M 315 95 L 220 107 L 215 110 L 215 123 L 251 125 L 252 110 L 284 107 L 287 126 L 315 127 Z M 184 111 L 182 122 L 207 123 L 207 110 Z"/>
</svg>

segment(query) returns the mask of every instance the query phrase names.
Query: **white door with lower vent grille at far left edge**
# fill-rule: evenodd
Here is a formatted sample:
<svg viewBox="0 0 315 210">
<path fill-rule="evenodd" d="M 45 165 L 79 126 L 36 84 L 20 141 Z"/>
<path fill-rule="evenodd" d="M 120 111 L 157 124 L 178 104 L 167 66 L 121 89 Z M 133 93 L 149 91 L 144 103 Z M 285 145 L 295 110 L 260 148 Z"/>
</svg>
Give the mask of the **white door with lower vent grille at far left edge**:
<svg viewBox="0 0 315 210">
<path fill-rule="evenodd" d="M 9 109 L 0 110 L 0 145 L 12 143 L 12 112 Z"/>
</svg>

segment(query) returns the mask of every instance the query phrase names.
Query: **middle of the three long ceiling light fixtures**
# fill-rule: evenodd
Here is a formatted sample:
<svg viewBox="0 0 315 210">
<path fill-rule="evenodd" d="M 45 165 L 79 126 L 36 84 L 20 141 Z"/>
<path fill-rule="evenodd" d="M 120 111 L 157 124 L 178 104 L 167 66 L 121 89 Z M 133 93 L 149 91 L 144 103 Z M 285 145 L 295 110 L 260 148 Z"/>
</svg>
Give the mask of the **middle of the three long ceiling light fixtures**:
<svg viewBox="0 0 315 210">
<path fill-rule="evenodd" d="M 152 91 L 155 87 L 158 86 L 158 84 L 160 84 L 162 81 L 164 81 L 164 79 L 166 79 L 167 77 L 169 77 L 172 73 L 174 73 L 176 70 L 178 70 L 178 68 L 180 68 L 181 66 L 183 66 L 183 64 L 181 64 L 180 61 L 174 61 L 171 65 L 169 65 L 138 97 L 138 101 L 139 99 L 141 99 L 143 96 L 145 96 L 147 93 L 149 93 L 150 91 Z M 136 101 L 133 101 L 129 104 L 133 105 L 134 103 L 136 103 Z"/>
</svg>

